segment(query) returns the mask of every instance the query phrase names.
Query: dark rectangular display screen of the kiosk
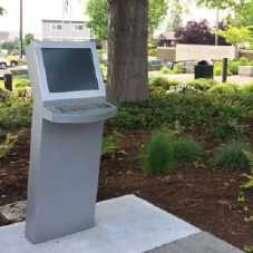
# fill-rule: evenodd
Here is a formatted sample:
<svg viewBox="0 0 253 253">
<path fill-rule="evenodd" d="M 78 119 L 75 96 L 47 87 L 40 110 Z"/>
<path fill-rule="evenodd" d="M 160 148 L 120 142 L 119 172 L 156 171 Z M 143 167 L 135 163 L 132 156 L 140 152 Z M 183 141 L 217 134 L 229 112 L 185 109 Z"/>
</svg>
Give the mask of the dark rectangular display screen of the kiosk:
<svg viewBox="0 0 253 253">
<path fill-rule="evenodd" d="M 42 57 L 50 93 L 98 89 L 91 49 L 43 48 Z"/>
</svg>

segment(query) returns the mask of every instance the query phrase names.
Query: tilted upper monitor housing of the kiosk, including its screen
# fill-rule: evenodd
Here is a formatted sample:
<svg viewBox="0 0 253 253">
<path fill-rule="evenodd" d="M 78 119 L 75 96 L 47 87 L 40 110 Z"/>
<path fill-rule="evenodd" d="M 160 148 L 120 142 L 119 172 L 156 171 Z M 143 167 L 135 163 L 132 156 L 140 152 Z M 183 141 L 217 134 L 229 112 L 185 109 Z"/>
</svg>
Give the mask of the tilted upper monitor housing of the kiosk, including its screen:
<svg viewBox="0 0 253 253">
<path fill-rule="evenodd" d="M 94 42 L 35 42 L 27 48 L 27 59 L 45 106 L 106 96 Z"/>
</svg>

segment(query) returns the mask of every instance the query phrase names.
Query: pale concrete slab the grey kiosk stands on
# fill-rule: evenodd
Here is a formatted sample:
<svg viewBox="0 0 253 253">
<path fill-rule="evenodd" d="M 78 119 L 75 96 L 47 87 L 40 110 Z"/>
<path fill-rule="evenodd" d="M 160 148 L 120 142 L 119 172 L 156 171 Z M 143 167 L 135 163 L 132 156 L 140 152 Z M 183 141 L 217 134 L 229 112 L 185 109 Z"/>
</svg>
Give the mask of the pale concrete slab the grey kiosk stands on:
<svg viewBox="0 0 253 253">
<path fill-rule="evenodd" d="M 188 223 L 134 195 L 98 203 L 97 225 L 41 244 L 25 237 L 25 223 L 0 227 L 4 253 L 143 253 L 200 233 Z"/>
</svg>

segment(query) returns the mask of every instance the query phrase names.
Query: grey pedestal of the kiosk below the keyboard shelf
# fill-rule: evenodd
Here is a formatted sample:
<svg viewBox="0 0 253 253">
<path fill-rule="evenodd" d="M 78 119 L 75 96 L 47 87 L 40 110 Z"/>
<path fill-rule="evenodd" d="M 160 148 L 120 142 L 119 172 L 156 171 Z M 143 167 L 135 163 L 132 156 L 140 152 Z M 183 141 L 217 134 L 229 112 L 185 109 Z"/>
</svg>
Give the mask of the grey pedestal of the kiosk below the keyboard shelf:
<svg viewBox="0 0 253 253">
<path fill-rule="evenodd" d="M 103 125 L 33 120 L 26 223 L 32 243 L 94 226 Z"/>
</svg>

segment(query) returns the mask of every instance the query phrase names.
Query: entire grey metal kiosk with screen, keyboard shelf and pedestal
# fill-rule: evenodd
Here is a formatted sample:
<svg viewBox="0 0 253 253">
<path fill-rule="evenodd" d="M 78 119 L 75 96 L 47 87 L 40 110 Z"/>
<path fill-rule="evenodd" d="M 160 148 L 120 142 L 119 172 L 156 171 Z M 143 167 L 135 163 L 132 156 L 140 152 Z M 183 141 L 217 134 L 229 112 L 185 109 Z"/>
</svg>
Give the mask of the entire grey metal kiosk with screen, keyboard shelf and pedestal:
<svg viewBox="0 0 253 253">
<path fill-rule="evenodd" d="M 95 225 L 104 120 L 116 114 L 91 42 L 27 48 L 33 116 L 26 235 L 32 243 Z"/>
</svg>

